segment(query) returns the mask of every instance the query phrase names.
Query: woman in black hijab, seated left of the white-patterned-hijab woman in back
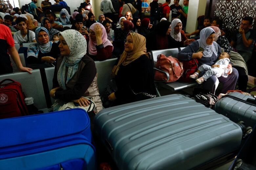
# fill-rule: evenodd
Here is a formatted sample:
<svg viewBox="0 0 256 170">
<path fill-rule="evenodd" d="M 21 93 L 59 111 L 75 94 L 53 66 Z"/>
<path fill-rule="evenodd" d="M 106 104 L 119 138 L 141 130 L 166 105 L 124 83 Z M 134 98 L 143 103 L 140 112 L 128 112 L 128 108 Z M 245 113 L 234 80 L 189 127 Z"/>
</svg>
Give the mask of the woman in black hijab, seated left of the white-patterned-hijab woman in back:
<svg viewBox="0 0 256 170">
<path fill-rule="evenodd" d="M 170 44 L 171 23 L 169 21 L 161 21 L 155 31 L 150 32 L 146 36 L 147 51 L 162 50 L 171 48 Z"/>
</svg>

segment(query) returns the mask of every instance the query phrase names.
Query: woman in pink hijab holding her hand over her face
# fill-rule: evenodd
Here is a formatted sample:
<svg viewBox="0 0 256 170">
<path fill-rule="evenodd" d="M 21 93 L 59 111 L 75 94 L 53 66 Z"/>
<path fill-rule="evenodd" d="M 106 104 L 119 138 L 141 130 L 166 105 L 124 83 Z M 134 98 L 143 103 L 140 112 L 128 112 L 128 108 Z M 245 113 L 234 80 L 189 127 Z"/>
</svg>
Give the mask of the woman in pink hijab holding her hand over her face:
<svg viewBox="0 0 256 170">
<path fill-rule="evenodd" d="M 88 43 L 88 38 L 87 38 Z M 100 23 L 90 26 L 87 55 L 94 60 L 110 59 L 114 47 L 108 40 L 106 29 Z"/>
</svg>

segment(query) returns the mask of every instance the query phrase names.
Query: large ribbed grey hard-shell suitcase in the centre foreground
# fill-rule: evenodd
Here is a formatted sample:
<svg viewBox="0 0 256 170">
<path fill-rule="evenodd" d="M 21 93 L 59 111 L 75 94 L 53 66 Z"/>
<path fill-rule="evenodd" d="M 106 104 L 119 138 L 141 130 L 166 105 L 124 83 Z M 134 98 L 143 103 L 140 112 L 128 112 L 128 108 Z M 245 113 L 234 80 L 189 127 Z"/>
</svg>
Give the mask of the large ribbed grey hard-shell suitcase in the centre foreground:
<svg viewBox="0 0 256 170">
<path fill-rule="evenodd" d="M 194 169 L 242 139 L 237 124 L 181 94 L 101 110 L 95 131 L 120 170 Z"/>
</svg>

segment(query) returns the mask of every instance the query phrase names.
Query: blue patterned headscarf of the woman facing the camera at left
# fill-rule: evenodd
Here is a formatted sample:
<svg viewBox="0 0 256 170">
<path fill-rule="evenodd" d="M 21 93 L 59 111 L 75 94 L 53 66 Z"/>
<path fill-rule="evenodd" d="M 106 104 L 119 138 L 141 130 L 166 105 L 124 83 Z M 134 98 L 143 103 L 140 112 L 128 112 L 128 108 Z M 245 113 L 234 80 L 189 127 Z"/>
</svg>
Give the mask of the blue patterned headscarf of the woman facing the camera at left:
<svg viewBox="0 0 256 170">
<path fill-rule="evenodd" d="M 49 32 L 45 27 L 36 28 L 36 30 L 35 30 L 35 40 L 36 40 L 37 43 L 29 45 L 29 47 L 28 47 L 28 57 L 29 56 L 34 56 L 35 58 L 37 58 L 39 51 L 41 51 L 41 53 L 49 53 L 51 51 L 53 42 L 47 42 L 46 44 L 40 44 L 39 43 L 38 34 L 41 31 L 46 32 L 47 35 L 49 36 Z"/>
</svg>

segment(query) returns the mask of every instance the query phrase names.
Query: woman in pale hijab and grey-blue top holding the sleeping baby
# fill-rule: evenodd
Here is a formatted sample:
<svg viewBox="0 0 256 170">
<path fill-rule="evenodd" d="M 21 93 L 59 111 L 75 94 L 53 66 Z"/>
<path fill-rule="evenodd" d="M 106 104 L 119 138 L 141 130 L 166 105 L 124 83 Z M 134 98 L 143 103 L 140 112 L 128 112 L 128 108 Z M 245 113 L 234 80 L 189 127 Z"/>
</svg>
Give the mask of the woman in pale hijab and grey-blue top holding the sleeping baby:
<svg viewBox="0 0 256 170">
<path fill-rule="evenodd" d="M 213 65 L 221 53 L 221 47 L 214 42 L 215 31 L 206 27 L 200 32 L 200 39 L 192 42 L 186 48 L 181 50 L 177 58 L 179 60 L 188 61 L 191 59 L 198 59 L 199 65 L 207 64 Z M 238 80 L 238 71 L 235 68 L 232 68 L 231 65 L 229 76 L 225 77 L 216 77 L 211 76 L 207 81 L 203 83 L 203 88 L 211 93 L 215 93 L 219 82 L 223 83 L 223 88 L 221 93 L 226 93 L 228 90 L 234 90 Z M 200 74 L 204 74 L 201 72 Z M 200 76 L 202 76 L 200 75 Z"/>
</svg>

